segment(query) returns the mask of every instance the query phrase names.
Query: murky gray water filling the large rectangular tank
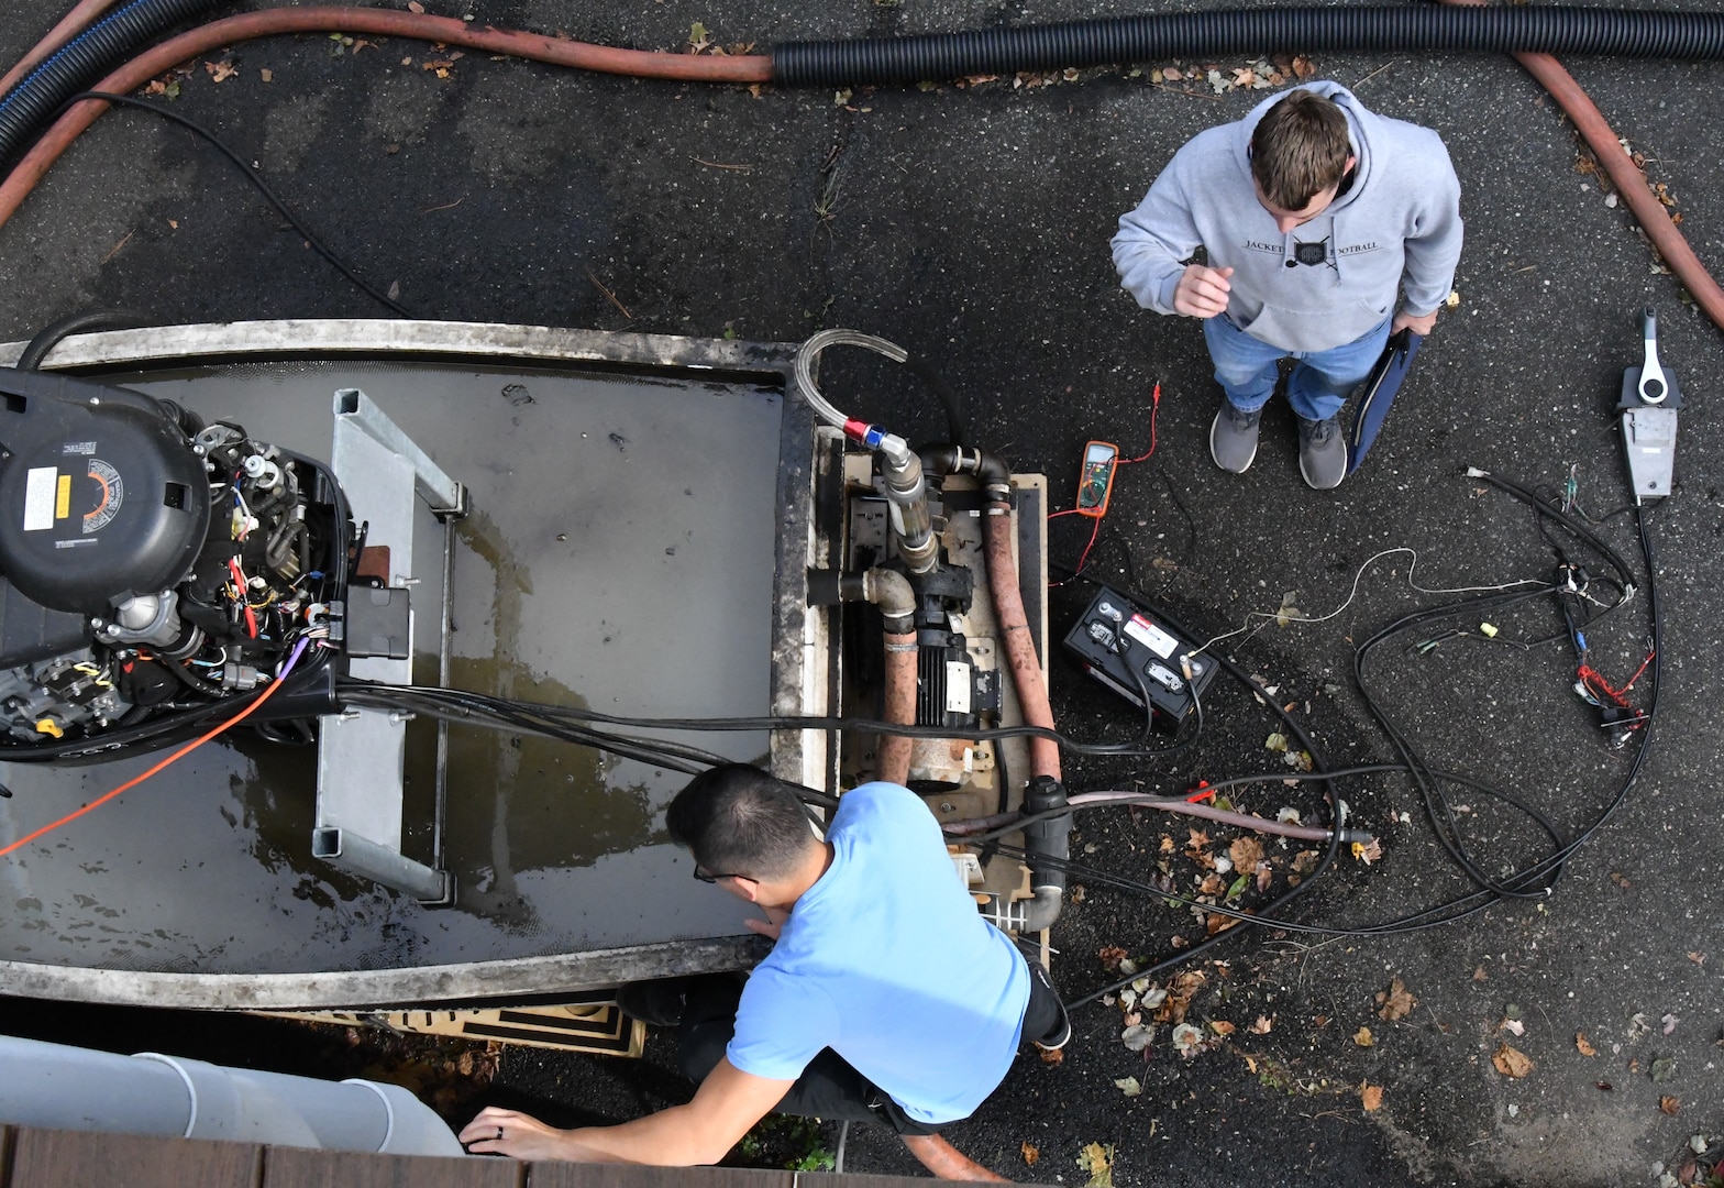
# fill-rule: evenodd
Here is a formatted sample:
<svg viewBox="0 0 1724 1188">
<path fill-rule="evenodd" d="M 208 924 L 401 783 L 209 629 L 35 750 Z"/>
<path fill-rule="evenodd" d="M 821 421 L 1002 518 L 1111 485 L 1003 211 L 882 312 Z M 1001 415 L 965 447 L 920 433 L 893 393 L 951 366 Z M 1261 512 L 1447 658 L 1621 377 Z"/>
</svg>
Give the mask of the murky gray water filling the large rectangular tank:
<svg viewBox="0 0 1724 1188">
<path fill-rule="evenodd" d="M 645 716 L 767 710 L 779 410 L 743 385 L 447 366 L 247 364 L 110 376 L 328 459 L 362 388 L 471 490 L 453 685 Z M 415 679 L 436 683 L 441 528 L 415 535 Z M 764 735 L 679 735 L 757 759 Z M 434 729 L 410 728 L 403 847 L 429 853 Z M 160 759 L 0 764 L 0 843 Z M 534 736 L 452 728 L 447 866 L 429 910 L 310 857 L 315 752 L 217 740 L 0 859 L 0 959 L 309 972 L 578 952 L 743 931 L 662 836 L 686 781 Z M 417 850 L 417 853 L 415 853 Z"/>
</svg>

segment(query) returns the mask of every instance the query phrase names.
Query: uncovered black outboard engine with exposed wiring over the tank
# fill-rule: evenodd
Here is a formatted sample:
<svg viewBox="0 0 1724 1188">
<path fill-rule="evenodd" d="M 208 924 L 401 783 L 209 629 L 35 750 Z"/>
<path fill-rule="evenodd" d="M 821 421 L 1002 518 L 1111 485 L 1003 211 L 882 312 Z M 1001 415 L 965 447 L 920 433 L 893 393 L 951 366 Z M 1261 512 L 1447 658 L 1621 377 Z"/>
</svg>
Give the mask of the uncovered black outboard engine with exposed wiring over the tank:
<svg viewBox="0 0 1724 1188">
<path fill-rule="evenodd" d="M 166 740 L 334 655 L 353 524 L 324 466 L 88 379 L 0 395 L 0 757 Z"/>
</svg>

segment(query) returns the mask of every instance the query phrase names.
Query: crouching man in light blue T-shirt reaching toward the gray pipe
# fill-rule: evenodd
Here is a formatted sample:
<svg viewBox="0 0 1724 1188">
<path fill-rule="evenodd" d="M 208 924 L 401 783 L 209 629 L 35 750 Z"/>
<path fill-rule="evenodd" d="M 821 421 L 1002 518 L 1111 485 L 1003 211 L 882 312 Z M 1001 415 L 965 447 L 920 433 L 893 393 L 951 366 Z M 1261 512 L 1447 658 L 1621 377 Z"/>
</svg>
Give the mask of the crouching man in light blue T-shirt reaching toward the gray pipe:
<svg viewBox="0 0 1724 1188">
<path fill-rule="evenodd" d="M 695 1098 L 572 1131 L 488 1107 L 462 1129 L 469 1150 L 710 1164 L 776 1109 L 878 1121 L 941 1178 L 1000 1179 L 936 1131 L 981 1105 L 1021 1040 L 1059 1047 L 1071 1028 L 1041 967 L 978 914 L 928 807 L 864 785 L 821 840 L 795 785 L 733 764 L 678 793 L 667 826 L 695 878 L 762 909 L 748 928 L 776 941 L 746 985 L 690 986 Z"/>
</svg>

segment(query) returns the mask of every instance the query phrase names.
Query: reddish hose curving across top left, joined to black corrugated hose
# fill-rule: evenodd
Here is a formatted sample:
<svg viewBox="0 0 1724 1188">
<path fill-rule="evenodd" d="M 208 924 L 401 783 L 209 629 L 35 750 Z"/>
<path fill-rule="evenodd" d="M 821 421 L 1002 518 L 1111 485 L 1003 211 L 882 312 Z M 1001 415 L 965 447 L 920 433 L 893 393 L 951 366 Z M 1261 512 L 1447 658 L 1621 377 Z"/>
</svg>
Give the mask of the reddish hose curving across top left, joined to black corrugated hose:
<svg viewBox="0 0 1724 1188">
<path fill-rule="evenodd" d="M 372 36 L 414 38 L 440 41 L 488 53 L 572 66 L 603 74 L 633 78 L 686 79 L 696 83 L 765 83 L 772 78 L 772 59 L 765 55 L 705 55 L 705 53 L 652 53 L 646 50 L 615 50 L 586 41 L 564 41 L 543 33 L 474 28 L 452 17 L 433 17 L 417 12 L 388 9 L 267 9 L 245 12 L 224 21 L 200 26 L 178 38 L 134 57 L 105 79 L 91 86 L 97 91 L 129 93 L 181 62 L 212 53 L 222 47 L 283 33 L 369 33 Z M 97 117 L 109 109 L 100 100 L 84 100 L 60 116 L 36 145 L 19 160 L 17 167 L 0 184 L 0 226 L 10 219 L 41 176 L 60 159 L 71 143 Z"/>
</svg>

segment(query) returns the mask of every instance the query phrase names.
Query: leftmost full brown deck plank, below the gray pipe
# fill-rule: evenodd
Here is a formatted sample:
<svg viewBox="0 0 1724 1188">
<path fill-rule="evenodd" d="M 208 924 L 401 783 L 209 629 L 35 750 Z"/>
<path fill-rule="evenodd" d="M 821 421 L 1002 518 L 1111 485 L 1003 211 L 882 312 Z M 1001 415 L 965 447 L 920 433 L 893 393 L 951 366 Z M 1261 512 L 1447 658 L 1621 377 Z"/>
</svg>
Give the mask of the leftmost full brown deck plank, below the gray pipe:
<svg viewBox="0 0 1724 1188">
<path fill-rule="evenodd" d="M 21 1128 L 7 1188 L 260 1188 L 259 1154 L 255 1143 Z"/>
</svg>

